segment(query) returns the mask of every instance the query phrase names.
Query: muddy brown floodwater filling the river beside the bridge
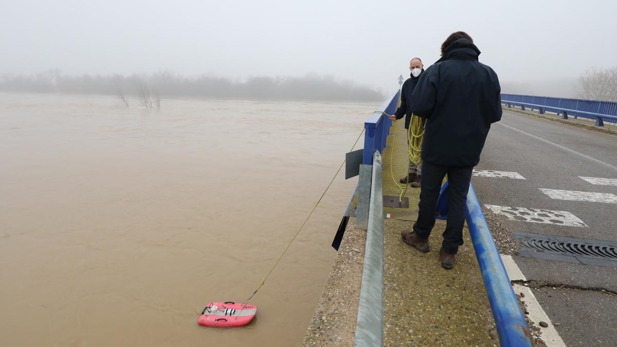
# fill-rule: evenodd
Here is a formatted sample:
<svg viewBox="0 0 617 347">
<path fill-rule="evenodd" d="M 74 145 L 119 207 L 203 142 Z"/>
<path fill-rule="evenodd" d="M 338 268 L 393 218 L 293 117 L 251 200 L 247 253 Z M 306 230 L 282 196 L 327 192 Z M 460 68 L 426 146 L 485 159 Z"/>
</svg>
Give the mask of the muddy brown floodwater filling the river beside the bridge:
<svg viewBox="0 0 617 347">
<path fill-rule="evenodd" d="M 357 178 L 338 175 L 377 104 L 0 93 L 0 346 L 299 345 Z M 362 139 L 357 145 L 362 148 Z"/>
</svg>

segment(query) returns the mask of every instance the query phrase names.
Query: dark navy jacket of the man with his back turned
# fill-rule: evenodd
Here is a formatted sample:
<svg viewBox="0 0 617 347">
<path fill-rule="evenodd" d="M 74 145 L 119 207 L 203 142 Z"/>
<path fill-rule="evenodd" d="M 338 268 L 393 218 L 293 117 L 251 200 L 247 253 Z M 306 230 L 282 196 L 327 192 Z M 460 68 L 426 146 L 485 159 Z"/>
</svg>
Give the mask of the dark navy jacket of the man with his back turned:
<svg viewBox="0 0 617 347">
<path fill-rule="evenodd" d="M 433 164 L 478 165 L 491 123 L 501 119 L 499 79 L 478 62 L 479 49 L 462 39 L 420 74 L 412 112 L 427 119 L 422 159 Z"/>
</svg>

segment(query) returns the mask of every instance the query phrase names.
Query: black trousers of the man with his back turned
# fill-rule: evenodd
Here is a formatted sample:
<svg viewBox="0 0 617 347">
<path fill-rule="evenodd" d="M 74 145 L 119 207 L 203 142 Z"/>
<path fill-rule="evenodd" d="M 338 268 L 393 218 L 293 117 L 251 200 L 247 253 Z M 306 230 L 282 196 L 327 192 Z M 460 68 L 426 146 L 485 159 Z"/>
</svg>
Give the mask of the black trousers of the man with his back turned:
<svg viewBox="0 0 617 347">
<path fill-rule="evenodd" d="M 422 163 L 422 178 L 420 203 L 418 203 L 418 220 L 413 230 L 420 237 L 428 237 L 435 225 L 437 198 L 439 190 L 448 175 L 448 219 L 445 225 L 442 247 L 447 253 L 455 254 L 458 246 L 463 245 L 463 224 L 465 224 L 465 204 L 471 182 L 473 167 L 453 167 L 436 165 L 424 161 Z"/>
</svg>

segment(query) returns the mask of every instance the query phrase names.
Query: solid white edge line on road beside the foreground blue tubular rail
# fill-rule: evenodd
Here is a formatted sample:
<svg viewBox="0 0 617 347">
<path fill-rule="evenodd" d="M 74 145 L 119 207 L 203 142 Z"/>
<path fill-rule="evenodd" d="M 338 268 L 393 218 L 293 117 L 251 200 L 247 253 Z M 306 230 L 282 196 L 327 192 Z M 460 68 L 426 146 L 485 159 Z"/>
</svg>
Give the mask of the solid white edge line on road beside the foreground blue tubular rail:
<svg viewBox="0 0 617 347">
<path fill-rule="evenodd" d="M 510 281 L 522 280 L 526 281 L 527 279 L 521 272 L 521 269 L 518 268 L 516 262 L 512 259 L 511 256 L 505 256 L 500 254 L 502 257 L 503 266 L 505 267 L 505 271 L 508 273 L 508 277 L 510 277 Z M 512 289 L 516 293 L 516 295 L 520 296 L 520 300 L 523 302 L 525 309 L 527 312 L 527 316 L 533 322 L 533 324 L 540 328 L 540 338 L 547 346 L 566 346 L 566 344 L 561 340 L 559 333 L 555 329 L 555 326 L 550 321 L 549 316 L 547 316 L 540 303 L 538 303 L 534 292 L 531 291 L 531 288 L 524 285 L 519 285 L 518 283 L 514 283 L 512 285 Z M 521 295 L 523 294 L 523 295 Z M 546 322 L 549 326 L 546 328 L 540 327 L 540 322 Z"/>
</svg>

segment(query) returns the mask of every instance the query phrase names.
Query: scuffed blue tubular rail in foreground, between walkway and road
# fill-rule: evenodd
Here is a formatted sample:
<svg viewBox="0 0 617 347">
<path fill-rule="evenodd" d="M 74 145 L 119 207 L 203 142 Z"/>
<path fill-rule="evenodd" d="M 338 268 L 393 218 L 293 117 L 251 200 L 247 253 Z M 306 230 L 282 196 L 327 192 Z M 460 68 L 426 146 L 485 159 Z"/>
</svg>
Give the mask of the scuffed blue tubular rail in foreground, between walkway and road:
<svg viewBox="0 0 617 347">
<path fill-rule="evenodd" d="M 447 219 L 448 182 L 444 183 L 439 193 L 437 213 L 439 219 Z M 478 197 L 469 185 L 465 219 L 469 227 L 471 242 L 476 251 L 478 265 L 484 281 L 484 288 L 489 297 L 491 311 L 497 327 L 501 346 L 531 346 L 529 327 L 518 306 L 518 299 L 512 288 L 508 273 L 503 266 L 497 246 L 491 235 L 489 225 L 484 219 Z"/>
</svg>

